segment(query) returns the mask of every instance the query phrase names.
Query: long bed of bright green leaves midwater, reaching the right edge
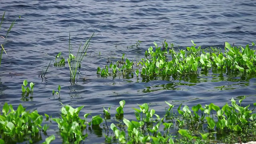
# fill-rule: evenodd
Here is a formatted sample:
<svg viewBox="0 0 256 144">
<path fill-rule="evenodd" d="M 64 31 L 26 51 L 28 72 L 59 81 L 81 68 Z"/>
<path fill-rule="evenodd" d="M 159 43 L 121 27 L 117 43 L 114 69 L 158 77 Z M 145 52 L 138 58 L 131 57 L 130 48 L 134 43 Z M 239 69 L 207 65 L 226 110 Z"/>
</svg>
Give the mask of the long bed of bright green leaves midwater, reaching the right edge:
<svg viewBox="0 0 256 144">
<path fill-rule="evenodd" d="M 98 67 L 97 74 L 108 76 L 112 74 L 116 76 L 116 72 L 134 72 L 138 76 L 172 76 L 177 74 L 197 73 L 198 70 L 206 70 L 208 68 L 218 68 L 231 70 L 232 72 L 255 73 L 256 54 L 255 50 L 246 45 L 231 47 L 228 42 L 225 42 L 224 54 L 218 48 L 201 49 L 201 46 L 196 48 L 196 44 L 191 41 L 193 46 L 187 47 L 186 50 L 176 52 L 168 43 L 164 41 L 162 46 L 158 46 L 154 42 L 155 48 L 150 46 L 145 52 L 145 58 L 136 62 L 137 68 L 133 69 L 133 62 L 126 59 L 123 65 L 110 64 L 106 65 L 102 70 Z M 169 51 L 168 51 L 169 50 Z M 123 59 L 123 58 L 122 58 Z M 169 60 L 170 59 L 170 60 Z M 108 71 L 111 68 L 111 71 Z"/>
</svg>

